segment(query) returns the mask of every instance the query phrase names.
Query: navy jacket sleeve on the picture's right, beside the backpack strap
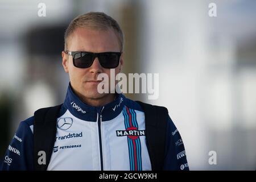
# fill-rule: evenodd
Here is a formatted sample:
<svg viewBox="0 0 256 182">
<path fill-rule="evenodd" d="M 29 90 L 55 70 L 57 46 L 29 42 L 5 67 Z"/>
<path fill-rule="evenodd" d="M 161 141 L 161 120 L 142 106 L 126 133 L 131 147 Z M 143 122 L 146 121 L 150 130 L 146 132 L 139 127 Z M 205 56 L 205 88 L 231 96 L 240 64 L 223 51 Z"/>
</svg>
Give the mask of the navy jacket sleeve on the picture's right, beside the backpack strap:
<svg viewBox="0 0 256 182">
<path fill-rule="evenodd" d="M 163 170 L 189 170 L 183 140 L 170 117 L 167 123 Z"/>
</svg>

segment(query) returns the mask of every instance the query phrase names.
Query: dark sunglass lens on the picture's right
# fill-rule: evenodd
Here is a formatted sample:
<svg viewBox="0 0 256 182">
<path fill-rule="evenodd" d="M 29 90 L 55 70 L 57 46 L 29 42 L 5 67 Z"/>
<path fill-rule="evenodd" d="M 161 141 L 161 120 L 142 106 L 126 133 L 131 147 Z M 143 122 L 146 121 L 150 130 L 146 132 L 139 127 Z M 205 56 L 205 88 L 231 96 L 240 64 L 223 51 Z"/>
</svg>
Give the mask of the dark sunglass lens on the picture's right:
<svg viewBox="0 0 256 182">
<path fill-rule="evenodd" d="M 104 68 L 115 68 L 119 64 L 119 55 L 117 53 L 102 53 L 100 64 Z"/>
</svg>

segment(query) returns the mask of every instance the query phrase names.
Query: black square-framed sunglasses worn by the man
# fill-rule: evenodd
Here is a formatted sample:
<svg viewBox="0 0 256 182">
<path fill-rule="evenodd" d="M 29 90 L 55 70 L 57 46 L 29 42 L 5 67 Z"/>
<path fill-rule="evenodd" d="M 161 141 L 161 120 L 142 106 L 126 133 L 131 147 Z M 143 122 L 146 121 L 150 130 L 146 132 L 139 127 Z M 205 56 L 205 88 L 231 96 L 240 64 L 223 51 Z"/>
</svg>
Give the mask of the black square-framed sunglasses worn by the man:
<svg viewBox="0 0 256 182">
<path fill-rule="evenodd" d="M 89 68 L 96 57 L 103 68 L 116 68 L 119 65 L 121 52 L 85 52 L 85 51 L 64 51 L 72 55 L 73 64 L 77 68 Z"/>
</svg>

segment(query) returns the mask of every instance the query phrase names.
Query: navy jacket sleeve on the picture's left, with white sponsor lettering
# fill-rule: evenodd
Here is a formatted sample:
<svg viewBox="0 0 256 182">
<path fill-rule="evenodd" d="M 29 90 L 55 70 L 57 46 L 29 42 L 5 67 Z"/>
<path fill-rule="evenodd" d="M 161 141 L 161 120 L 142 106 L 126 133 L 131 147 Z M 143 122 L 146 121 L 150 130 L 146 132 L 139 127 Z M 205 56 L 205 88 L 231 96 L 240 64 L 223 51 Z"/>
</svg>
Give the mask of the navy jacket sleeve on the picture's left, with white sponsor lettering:
<svg viewBox="0 0 256 182">
<path fill-rule="evenodd" d="M 0 164 L 1 170 L 20 171 L 33 169 L 34 140 L 31 128 L 26 121 L 20 122 L 18 130 L 3 156 L 2 164 Z"/>
</svg>

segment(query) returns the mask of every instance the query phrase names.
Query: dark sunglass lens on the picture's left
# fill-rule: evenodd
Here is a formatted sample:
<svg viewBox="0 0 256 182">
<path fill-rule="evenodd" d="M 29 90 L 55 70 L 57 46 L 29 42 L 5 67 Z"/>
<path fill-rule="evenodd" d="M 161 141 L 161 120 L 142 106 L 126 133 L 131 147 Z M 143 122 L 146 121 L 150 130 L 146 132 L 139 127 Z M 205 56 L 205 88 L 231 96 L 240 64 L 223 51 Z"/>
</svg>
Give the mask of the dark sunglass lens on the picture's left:
<svg viewBox="0 0 256 182">
<path fill-rule="evenodd" d="M 92 53 L 79 52 L 74 55 L 74 65 L 77 68 L 89 68 L 92 64 Z"/>
</svg>

